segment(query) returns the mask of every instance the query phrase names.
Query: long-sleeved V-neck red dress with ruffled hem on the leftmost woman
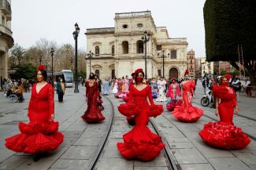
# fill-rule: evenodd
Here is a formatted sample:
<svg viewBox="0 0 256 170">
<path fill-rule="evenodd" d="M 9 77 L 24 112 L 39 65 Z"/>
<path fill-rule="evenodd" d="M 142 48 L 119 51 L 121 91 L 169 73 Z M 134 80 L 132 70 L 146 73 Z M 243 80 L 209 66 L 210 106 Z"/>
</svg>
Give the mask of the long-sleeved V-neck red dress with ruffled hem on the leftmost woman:
<svg viewBox="0 0 256 170">
<path fill-rule="evenodd" d="M 58 121 L 51 121 L 54 114 L 54 88 L 47 84 L 39 93 L 36 84 L 32 87 L 32 96 L 28 105 L 29 123 L 20 122 L 20 134 L 6 139 L 6 147 L 15 152 L 27 154 L 54 150 L 63 141 L 58 132 Z"/>
</svg>

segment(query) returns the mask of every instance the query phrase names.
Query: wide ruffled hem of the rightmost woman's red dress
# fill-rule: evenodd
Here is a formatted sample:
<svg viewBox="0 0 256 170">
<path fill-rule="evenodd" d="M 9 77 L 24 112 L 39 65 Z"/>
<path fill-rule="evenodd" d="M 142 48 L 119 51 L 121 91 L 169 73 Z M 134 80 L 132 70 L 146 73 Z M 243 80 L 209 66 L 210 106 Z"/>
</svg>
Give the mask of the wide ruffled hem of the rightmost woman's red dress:
<svg viewBox="0 0 256 170">
<path fill-rule="evenodd" d="M 198 134 L 210 146 L 226 150 L 242 149 L 250 143 L 241 128 L 224 122 L 210 122 Z"/>
</svg>

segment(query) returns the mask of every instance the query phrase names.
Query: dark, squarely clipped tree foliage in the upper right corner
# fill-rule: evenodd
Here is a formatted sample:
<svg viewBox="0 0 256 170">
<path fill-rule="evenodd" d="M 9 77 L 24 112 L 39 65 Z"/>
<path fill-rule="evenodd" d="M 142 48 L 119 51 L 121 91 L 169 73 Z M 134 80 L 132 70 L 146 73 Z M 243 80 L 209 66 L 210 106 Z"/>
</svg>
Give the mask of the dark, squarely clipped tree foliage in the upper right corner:
<svg viewBox="0 0 256 170">
<path fill-rule="evenodd" d="M 239 70 L 238 45 L 243 46 L 244 67 L 256 85 L 256 1 L 206 0 L 204 23 L 206 60 L 228 61 Z"/>
</svg>

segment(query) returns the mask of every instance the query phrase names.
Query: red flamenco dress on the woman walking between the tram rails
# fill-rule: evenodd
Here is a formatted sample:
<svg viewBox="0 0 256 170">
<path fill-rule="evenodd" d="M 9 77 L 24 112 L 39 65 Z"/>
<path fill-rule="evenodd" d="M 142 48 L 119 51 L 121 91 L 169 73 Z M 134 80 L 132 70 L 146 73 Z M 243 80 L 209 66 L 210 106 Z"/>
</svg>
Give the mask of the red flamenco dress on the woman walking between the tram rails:
<svg viewBox="0 0 256 170">
<path fill-rule="evenodd" d="M 150 100 L 150 105 L 147 101 Z M 150 161 L 160 154 L 165 144 L 147 128 L 149 117 L 156 117 L 163 112 L 162 105 L 154 105 L 150 86 L 138 90 L 134 85 L 129 89 L 129 102 L 121 104 L 118 110 L 124 116 L 135 117 L 135 126 L 124 134 L 124 143 L 117 143 L 117 149 L 127 159 Z"/>
</svg>

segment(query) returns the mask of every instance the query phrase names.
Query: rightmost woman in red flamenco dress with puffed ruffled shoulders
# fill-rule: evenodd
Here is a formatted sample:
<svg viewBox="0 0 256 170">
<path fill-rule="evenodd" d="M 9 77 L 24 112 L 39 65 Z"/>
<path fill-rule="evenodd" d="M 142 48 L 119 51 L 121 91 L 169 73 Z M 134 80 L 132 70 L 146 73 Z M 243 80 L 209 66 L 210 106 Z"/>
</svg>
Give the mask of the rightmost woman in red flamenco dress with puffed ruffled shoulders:
<svg viewBox="0 0 256 170">
<path fill-rule="evenodd" d="M 215 114 L 220 116 L 220 121 L 204 125 L 199 132 L 202 140 L 210 146 L 224 150 L 236 150 L 246 147 L 250 139 L 242 132 L 241 128 L 233 124 L 233 112 L 238 113 L 236 92 L 229 87 L 228 75 L 221 77 L 221 85 L 213 86 L 213 96 L 216 99 Z"/>
</svg>

